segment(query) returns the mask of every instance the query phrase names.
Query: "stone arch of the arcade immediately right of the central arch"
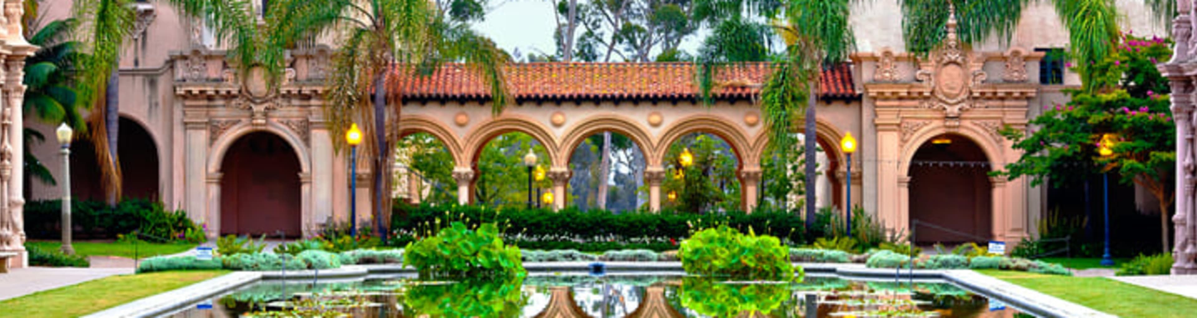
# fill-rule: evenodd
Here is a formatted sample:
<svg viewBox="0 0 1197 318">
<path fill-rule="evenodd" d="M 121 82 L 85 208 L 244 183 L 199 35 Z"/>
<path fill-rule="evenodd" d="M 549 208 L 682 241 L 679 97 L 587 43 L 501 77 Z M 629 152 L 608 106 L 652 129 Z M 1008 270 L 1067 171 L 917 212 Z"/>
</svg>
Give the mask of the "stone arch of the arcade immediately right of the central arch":
<svg viewBox="0 0 1197 318">
<path fill-rule="evenodd" d="M 752 157 L 752 143 L 748 141 L 747 134 L 733 121 L 713 115 L 694 115 L 681 118 L 666 128 L 664 134 L 657 139 L 656 147 L 652 148 L 652 155 L 646 155 L 648 158 L 652 158 L 650 160 L 654 160 L 650 161 L 649 166 L 654 166 L 652 163 L 657 165 L 664 163 L 669 145 L 691 133 L 710 133 L 722 137 L 731 147 L 731 152 L 736 154 L 740 169 L 759 165 L 758 163 L 748 161 L 749 157 Z"/>
</svg>

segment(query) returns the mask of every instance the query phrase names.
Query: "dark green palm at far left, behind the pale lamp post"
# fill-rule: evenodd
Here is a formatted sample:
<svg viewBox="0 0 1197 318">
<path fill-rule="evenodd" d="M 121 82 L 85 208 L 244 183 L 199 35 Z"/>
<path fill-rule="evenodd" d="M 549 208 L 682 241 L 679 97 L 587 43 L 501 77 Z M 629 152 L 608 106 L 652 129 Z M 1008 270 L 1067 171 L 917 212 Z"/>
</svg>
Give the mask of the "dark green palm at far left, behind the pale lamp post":
<svg viewBox="0 0 1197 318">
<path fill-rule="evenodd" d="M 35 19 L 26 19 L 36 25 Z M 77 130 L 85 126 L 79 115 L 78 94 L 69 72 L 80 56 L 79 42 L 69 41 L 74 19 L 54 20 L 41 27 L 26 27 L 29 43 L 37 45 L 37 54 L 25 60 L 25 100 L 23 109 L 37 121 L 48 124 L 67 123 Z M 25 128 L 25 176 L 55 185 L 54 176 L 30 152 L 34 142 L 44 142 L 37 130 Z"/>
</svg>

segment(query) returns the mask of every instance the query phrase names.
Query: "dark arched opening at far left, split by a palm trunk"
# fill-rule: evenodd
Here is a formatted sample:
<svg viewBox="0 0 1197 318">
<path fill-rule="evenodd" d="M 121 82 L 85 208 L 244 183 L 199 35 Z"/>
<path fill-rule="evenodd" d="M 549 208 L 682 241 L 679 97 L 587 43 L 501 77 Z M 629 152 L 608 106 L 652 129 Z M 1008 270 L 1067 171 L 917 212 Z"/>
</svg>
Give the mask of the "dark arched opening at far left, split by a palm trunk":
<svg viewBox="0 0 1197 318">
<path fill-rule="evenodd" d="M 122 172 L 121 195 L 159 200 L 160 160 L 156 139 L 140 121 L 130 117 L 121 116 L 119 127 L 116 155 Z M 83 136 L 71 142 L 71 195 L 83 200 L 108 200 L 102 184 L 96 147 L 91 140 Z"/>
</svg>

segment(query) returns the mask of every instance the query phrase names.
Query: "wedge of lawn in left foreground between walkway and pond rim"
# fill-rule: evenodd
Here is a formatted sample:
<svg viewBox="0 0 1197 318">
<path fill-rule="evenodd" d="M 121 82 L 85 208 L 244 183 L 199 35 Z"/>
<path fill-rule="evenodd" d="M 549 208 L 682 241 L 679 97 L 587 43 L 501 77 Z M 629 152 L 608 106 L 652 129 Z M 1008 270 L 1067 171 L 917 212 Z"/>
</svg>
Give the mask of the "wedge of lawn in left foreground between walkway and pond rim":
<svg viewBox="0 0 1197 318">
<path fill-rule="evenodd" d="M 162 271 L 109 276 L 0 301 L 0 317 L 79 317 L 169 292 L 227 270 Z"/>
</svg>

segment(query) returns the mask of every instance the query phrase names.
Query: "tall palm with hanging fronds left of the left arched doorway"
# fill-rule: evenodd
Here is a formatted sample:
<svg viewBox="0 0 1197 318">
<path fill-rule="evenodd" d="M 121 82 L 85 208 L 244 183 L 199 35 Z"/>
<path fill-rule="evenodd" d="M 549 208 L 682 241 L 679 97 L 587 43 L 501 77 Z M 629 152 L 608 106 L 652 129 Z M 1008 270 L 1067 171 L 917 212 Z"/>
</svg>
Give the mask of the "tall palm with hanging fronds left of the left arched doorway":
<svg viewBox="0 0 1197 318">
<path fill-rule="evenodd" d="M 124 39 L 133 32 L 136 17 L 132 0 L 77 0 L 74 18 L 79 22 L 75 36 L 86 42 L 87 55 L 79 66 L 81 103 L 91 108 L 87 127 L 96 146 L 102 184 L 108 191 L 109 206 L 121 196 L 121 166 L 116 157 L 117 123 L 120 122 L 120 57 Z"/>
</svg>

